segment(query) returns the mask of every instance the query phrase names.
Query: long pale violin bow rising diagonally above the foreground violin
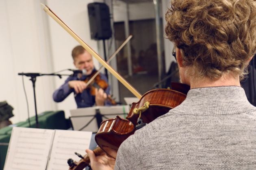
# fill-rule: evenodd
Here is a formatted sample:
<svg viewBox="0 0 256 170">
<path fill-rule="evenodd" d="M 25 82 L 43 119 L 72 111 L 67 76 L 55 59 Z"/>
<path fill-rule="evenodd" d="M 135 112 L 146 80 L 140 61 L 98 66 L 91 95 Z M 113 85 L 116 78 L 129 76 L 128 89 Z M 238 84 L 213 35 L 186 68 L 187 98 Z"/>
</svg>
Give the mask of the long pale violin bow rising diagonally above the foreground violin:
<svg viewBox="0 0 256 170">
<path fill-rule="evenodd" d="M 134 94 L 137 98 L 141 99 L 141 94 L 134 88 L 130 83 L 128 83 L 121 75 L 116 72 L 108 63 L 106 63 L 100 55 L 98 55 L 91 47 L 89 47 L 76 33 L 71 30 L 61 19 L 48 8 L 48 6 L 41 4 L 43 6 L 43 10 L 52 17 L 59 25 L 64 28 L 73 38 L 75 38 L 82 47 L 84 47 L 91 55 L 93 55 L 102 66 L 104 66 L 115 78 L 117 78 L 132 94 Z"/>
</svg>

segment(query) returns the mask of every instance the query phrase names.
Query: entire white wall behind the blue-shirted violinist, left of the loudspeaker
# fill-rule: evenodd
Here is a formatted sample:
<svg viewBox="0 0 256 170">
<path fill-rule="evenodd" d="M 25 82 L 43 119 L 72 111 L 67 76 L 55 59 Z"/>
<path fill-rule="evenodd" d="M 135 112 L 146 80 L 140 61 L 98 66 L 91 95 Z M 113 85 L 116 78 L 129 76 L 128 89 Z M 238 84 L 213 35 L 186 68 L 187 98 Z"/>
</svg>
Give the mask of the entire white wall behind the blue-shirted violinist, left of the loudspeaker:
<svg viewBox="0 0 256 170">
<path fill-rule="evenodd" d="M 61 26 L 50 18 L 40 3 L 47 4 L 80 38 L 97 51 L 91 40 L 87 4 L 93 0 L 0 0 L 0 101 L 13 106 L 13 123 L 27 119 L 27 107 L 18 72 L 51 73 L 74 68 L 72 49 L 78 45 Z M 98 68 L 98 62 L 95 66 Z M 70 72 L 63 72 L 69 73 Z M 36 81 L 37 111 L 69 110 L 76 108 L 74 97 L 56 104 L 53 91 L 64 81 L 58 77 L 38 77 Z M 32 83 L 24 77 L 30 116 L 35 115 Z"/>
</svg>

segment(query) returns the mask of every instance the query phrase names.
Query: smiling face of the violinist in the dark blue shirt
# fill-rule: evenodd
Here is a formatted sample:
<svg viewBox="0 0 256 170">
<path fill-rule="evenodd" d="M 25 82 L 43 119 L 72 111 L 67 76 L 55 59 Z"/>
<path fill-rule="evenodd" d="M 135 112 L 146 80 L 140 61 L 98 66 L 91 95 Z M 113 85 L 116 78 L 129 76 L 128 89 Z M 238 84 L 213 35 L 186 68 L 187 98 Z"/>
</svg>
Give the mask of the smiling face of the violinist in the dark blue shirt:
<svg viewBox="0 0 256 170">
<path fill-rule="evenodd" d="M 77 55 L 74 57 L 74 65 L 79 70 L 85 69 L 87 75 L 91 74 L 94 68 L 91 54 L 88 53 L 88 51 L 85 51 L 84 53 Z"/>
</svg>

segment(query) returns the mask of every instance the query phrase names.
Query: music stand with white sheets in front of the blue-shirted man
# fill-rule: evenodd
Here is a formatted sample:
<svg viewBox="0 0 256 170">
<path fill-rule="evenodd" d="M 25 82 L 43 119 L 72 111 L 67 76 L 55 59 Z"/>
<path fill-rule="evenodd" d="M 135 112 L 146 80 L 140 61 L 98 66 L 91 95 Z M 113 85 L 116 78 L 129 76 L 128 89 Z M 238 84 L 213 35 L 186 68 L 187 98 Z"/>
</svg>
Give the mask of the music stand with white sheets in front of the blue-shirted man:
<svg viewBox="0 0 256 170">
<path fill-rule="evenodd" d="M 100 123 L 117 115 L 125 118 L 130 111 L 128 105 L 93 106 L 70 110 L 70 120 L 74 130 L 98 132 Z"/>
</svg>

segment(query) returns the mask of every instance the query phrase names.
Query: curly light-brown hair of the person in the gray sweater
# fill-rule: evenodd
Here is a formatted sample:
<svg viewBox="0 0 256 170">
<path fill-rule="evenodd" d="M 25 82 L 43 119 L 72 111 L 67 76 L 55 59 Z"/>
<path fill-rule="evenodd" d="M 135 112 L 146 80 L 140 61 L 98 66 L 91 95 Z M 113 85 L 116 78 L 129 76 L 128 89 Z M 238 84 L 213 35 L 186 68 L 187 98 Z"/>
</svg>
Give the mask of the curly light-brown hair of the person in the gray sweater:
<svg viewBox="0 0 256 170">
<path fill-rule="evenodd" d="M 256 50 L 256 1 L 171 0 L 165 33 L 197 77 L 243 78 Z"/>
</svg>

